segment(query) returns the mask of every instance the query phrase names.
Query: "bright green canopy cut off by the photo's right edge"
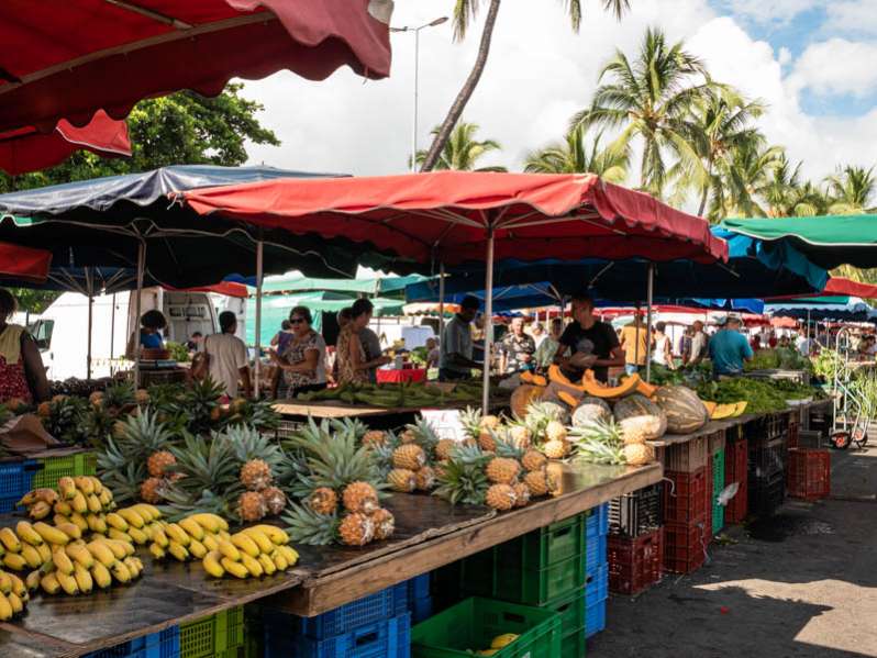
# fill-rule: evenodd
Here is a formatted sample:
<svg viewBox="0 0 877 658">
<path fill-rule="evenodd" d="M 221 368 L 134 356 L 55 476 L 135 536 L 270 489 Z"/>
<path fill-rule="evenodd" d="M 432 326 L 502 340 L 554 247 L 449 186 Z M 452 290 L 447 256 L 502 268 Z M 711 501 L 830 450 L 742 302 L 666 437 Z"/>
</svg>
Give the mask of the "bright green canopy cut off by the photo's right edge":
<svg viewBox="0 0 877 658">
<path fill-rule="evenodd" d="M 877 267 L 877 215 L 725 220 L 722 227 L 764 241 L 773 250 L 795 247 L 825 269 Z"/>
</svg>

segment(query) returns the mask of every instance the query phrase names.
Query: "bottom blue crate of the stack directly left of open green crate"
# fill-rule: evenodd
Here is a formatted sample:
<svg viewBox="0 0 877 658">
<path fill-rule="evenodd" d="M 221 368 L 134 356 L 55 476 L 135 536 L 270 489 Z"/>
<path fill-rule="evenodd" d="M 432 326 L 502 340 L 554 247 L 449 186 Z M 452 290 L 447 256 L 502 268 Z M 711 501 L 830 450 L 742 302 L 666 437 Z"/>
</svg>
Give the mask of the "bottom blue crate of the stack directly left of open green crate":
<svg viewBox="0 0 877 658">
<path fill-rule="evenodd" d="M 265 625 L 265 658 L 409 658 L 411 616 L 401 614 L 326 639 L 295 636 Z"/>
</svg>

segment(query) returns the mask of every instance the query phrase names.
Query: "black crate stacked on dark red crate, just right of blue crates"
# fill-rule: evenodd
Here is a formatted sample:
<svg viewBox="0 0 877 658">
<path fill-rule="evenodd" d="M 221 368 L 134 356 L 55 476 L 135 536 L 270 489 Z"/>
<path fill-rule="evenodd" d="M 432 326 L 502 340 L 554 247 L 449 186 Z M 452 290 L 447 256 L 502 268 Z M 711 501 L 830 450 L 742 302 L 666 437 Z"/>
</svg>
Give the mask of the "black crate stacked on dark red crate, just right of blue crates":
<svg viewBox="0 0 877 658">
<path fill-rule="evenodd" d="M 660 581 L 664 529 L 660 484 L 625 493 L 609 503 L 609 589 L 637 594 Z"/>
</svg>

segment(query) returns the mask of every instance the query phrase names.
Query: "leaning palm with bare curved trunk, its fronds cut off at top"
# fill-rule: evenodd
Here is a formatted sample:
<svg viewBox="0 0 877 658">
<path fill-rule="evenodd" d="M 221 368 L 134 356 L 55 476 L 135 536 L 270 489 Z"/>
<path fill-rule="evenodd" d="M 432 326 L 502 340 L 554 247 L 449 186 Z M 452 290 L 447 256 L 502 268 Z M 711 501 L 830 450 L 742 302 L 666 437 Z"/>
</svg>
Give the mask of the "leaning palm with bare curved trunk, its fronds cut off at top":
<svg viewBox="0 0 877 658">
<path fill-rule="evenodd" d="M 478 14 L 481 1 L 482 0 L 455 0 L 454 38 L 462 40 L 466 36 L 469 23 Z M 607 11 L 612 11 L 615 14 L 615 18 L 619 20 L 621 20 L 624 11 L 630 8 L 630 0 L 600 1 L 603 4 L 603 9 Z M 566 9 L 566 12 L 569 14 L 569 21 L 571 23 L 573 30 L 578 32 L 579 27 L 581 26 L 581 0 L 562 0 L 562 2 Z M 475 92 L 475 88 L 478 86 L 478 81 L 481 79 L 481 74 L 487 65 L 487 57 L 490 54 L 490 42 L 493 37 L 493 29 L 497 24 L 497 15 L 499 14 L 500 3 L 501 0 L 490 0 L 490 5 L 487 9 L 487 18 L 485 19 L 485 26 L 481 31 L 481 42 L 478 45 L 478 55 L 475 58 L 475 65 L 473 66 L 469 76 L 466 78 L 466 81 L 463 83 L 463 88 L 459 90 L 459 93 L 457 93 L 457 98 L 454 99 L 454 102 L 451 105 L 445 120 L 442 122 L 438 132 L 433 133 L 435 137 L 433 138 L 432 146 L 430 146 L 426 156 L 423 158 L 423 164 L 421 166 L 422 171 L 430 171 L 435 167 L 442 149 L 451 138 L 451 132 L 459 121 L 459 118 L 463 116 L 463 111 L 466 109 L 466 103 L 469 102 L 471 94 Z"/>
</svg>

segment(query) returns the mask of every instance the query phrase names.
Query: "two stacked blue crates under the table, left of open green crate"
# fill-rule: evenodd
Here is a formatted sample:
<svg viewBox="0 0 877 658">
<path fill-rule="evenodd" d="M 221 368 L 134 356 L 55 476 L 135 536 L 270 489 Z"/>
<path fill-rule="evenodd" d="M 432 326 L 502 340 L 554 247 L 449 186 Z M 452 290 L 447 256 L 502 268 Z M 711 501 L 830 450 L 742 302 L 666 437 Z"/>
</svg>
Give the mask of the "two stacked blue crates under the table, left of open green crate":
<svg viewBox="0 0 877 658">
<path fill-rule="evenodd" d="M 266 658 L 408 658 L 408 583 L 314 617 L 264 610 L 263 629 Z"/>
</svg>

